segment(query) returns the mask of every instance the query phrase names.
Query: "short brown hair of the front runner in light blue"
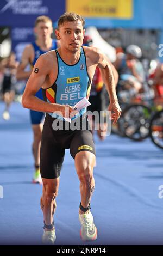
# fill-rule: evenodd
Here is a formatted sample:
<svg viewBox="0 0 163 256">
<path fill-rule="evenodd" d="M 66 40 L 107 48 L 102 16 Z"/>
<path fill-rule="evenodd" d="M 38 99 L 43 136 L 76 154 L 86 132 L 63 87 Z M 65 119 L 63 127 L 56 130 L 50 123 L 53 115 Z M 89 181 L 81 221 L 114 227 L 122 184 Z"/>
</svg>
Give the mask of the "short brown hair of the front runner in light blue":
<svg viewBox="0 0 163 256">
<path fill-rule="evenodd" d="M 64 13 L 60 16 L 59 20 L 58 20 L 58 29 L 61 25 L 64 24 L 64 22 L 67 21 L 82 21 L 82 25 L 84 27 L 85 25 L 85 20 L 82 16 L 80 16 L 79 14 L 76 13 Z"/>
</svg>

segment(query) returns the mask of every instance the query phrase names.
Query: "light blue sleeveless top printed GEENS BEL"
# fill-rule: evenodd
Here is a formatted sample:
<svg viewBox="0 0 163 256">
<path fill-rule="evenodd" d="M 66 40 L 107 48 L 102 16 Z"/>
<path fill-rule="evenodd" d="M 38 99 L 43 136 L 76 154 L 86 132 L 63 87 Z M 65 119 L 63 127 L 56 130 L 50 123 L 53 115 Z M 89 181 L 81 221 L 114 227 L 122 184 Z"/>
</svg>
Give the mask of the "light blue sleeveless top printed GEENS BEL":
<svg viewBox="0 0 163 256">
<path fill-rule="evenodd" d="M 83 47 L 80 48 L 80 58 L 74 65 L 68 65 L 62 60 L 57 50 L 55 50 L 58 62 L 58 75 L 54 84 L 48 89 L 42 89 L 45 101 L 58 103 L 61 105 L 74 106 L 84 97 L 89 99 L 91 82 L 87 73 L 86 57 Z M 76 117 L 83 115 L 86 108 L 83 108 Z M 53 113 L 49 113 L 53 115 Z M 57 118 L 63 118 L 57 115 Z"/>
</svg>

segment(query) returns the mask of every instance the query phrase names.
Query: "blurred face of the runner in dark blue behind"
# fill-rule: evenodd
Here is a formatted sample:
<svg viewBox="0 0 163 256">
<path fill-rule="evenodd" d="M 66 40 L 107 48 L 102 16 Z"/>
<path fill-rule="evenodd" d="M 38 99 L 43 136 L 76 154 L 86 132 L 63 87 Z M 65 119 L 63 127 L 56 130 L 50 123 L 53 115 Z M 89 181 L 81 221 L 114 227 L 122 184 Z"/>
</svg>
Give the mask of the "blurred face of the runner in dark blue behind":
<svg viewBox="0 0 163 256">
<path fill-rule="evenodd" d="M 53 33 L 52 22 L 39 22 L 37 26 L 34 28 L 34 32 L 38 39 L 51 38 L 51 34 Z"/>
</svg>

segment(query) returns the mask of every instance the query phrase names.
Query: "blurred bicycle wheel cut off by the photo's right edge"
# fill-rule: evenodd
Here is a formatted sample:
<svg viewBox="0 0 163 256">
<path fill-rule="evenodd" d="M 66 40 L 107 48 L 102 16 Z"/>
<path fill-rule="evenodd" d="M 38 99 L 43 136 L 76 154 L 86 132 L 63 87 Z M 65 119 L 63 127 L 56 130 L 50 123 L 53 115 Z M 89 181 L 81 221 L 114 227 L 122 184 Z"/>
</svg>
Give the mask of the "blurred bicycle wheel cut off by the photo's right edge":
<svg viewBox="0 0 163 256">
<path fill-rule="evenodd" d="M 163 110 L 156 112 L 151 119 L 149 136 L 157 147 L 163 149 Z"/>
</svg>

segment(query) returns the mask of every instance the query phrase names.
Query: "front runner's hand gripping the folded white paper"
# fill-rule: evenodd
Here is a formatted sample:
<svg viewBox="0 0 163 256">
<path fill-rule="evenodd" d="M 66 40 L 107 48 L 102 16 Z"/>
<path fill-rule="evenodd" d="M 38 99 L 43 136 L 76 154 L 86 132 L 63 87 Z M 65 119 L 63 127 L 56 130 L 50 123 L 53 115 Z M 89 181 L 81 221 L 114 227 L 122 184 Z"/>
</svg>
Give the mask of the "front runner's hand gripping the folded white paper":
<svg viewBox="0 0 163 256">
<path fill-rule="evenodd" d="M 65 118 L 72 118 L 72 117 L 74 117 L 74 115 L 78 114 L 79 112 L 77 110 L 74 110 L 69 105 L 55 104 L 54 113 L 62 115 L 62 117 L 65 117 Z"/>
</svg>

